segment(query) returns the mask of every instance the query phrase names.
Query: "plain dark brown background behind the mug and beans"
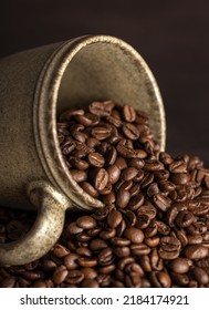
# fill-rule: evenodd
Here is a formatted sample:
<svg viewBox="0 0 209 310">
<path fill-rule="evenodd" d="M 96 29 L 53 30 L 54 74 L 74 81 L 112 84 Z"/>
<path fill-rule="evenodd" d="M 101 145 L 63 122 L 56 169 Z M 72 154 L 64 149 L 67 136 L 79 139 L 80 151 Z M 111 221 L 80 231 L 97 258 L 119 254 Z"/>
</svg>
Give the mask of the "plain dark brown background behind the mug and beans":
<svg viewBox="0 0 209 310">
<path fill-rule="evenodd" d="M 90 33 L 130 43 L 160 87 L 167 151 L 198 155 L 209 166 L 209 1 L 3 2 L 0 56 Z"/>
</svg>

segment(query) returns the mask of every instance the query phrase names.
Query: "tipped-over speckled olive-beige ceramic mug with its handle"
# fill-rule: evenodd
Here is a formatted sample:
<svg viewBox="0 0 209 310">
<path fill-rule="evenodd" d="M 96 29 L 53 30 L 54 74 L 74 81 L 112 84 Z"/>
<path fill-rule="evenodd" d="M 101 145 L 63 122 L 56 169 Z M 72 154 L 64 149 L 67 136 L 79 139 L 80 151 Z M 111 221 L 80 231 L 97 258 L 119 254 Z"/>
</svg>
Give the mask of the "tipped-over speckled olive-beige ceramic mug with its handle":
<svg viewBox="0 0 209 310">
<path fill-rule="evenodd" d="M 149 115 L 165 149 L 161 96 L 144 59 L 109 35 L 84 35 L 0 60 L 0 205 L 38 209 L 17 241 L 0 245 L 0 265 L 22 265 L 58 241 L 65 210 L 101 208 L 71 177 L 59 146 L 56 118 L 67 108 L 113 100 Z"/>
</svg>

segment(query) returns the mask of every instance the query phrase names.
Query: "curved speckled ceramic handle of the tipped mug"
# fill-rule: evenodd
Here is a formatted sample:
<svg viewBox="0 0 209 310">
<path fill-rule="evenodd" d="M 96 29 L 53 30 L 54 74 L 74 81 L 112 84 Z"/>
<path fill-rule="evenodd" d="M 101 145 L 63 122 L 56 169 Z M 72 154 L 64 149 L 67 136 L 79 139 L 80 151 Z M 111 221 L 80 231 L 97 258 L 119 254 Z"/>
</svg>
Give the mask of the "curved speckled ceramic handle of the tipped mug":
<svg viewBox="0 0 209 310">
<path fill-rule="evenodd" d="M 34 261 L 45 255 L 60 238 L 65 210 L 71 202 L 49 183 L 38 180 L 28 186 L 31 203 L 38 216 L 27 235 L 0 246 L 0 266 L 17 266 Z"/>
</svg>

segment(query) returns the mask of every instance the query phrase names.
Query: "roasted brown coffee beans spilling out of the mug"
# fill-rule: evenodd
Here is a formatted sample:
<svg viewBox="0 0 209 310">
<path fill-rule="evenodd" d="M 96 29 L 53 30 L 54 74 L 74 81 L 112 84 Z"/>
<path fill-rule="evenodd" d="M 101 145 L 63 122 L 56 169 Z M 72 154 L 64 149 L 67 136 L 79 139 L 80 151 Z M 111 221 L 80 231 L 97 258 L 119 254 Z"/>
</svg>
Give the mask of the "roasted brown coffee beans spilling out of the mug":
<svg viewBox="0 0 209 310">
<path fill-rule="evenodd" d="M 1 287 L 209 287 L 209 170 L 197 156 L 160 152 L 148 116 L 113 101 L 64 112 L 58 138 L 73 179 L 104 207 L 67 215 L 48 255 L 0 269 Z M 7 213 L 1 242 L 27 231 Z"/>
</svg>

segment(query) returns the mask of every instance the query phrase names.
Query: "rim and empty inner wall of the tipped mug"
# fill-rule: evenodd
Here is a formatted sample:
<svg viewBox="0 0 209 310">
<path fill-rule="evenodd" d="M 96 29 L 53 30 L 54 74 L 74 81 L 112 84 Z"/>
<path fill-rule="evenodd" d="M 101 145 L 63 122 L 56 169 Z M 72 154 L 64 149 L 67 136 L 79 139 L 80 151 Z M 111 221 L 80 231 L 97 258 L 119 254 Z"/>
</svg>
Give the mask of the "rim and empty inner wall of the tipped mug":
<svg viewBox="0 0 209 310">
<path fill-rule="evenodd" d="M 113 100 L 129 104 L 149 115 L 149 125 L 160 148 L 165 148 L 165 114 L 156 81 L 143 58 L 124 41 L 108 35 L 90 35 L 70 41 L 54 55 L 44 79 L 52 108 L 43 107 L 43 151 L 53 182 L 75 205 L 96 208 L 103 204 L 87 195 L 71 177 L 63 161 L 56 135 L 56 120 L 69 108 L 85 107 L 93 101 Z M 51 64 L 52 66 L 52 64 Z M 49 93 L 51 94 L 49 99 Z M 43 125 L 43 124 L 42 124 Z M 41 126 L 42 126 L 41 125 Z M 50 142 L 50 141 L 51 142 Z"/>
</svg>

